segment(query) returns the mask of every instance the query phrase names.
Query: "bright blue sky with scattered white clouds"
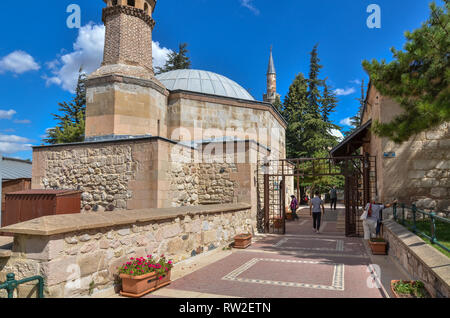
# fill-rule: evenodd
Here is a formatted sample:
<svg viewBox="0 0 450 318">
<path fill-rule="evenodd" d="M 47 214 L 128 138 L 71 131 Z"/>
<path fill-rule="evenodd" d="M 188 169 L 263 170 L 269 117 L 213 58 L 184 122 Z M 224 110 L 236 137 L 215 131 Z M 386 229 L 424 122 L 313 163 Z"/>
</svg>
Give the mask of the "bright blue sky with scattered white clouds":
<svg viewBox="0 0 450 318">
<path fill-rule="evenodd" d="M 241 84 L 258 100 L 265 91 L 273 45 L 278 91 L 284 97 L 296 74 L 308 73 L 309 52 L 319 43 L 322 77 L 339 96 L 332 119 L 353 116 L 360 96 L 356 81 L 368 81 L 364 59 L 391 59 L 404 32 L 429 15 L 428 0 L 158 0 L 153 41 L 155 63 L 189 43 L 192 67 Z M 44 5 L 42 5 L 44 3 Z M 48 4 L 48 3 L 51 3 Z M 381 29 L 369 29 L 369 4 L 381 8 Z M 440 3 L 440 2 L 439 2 Z M 69 29 L 70 4 L 81 8 L 81 29 Z M 6 1 L 0 24 L 0 152 L 31 159 L 55 122 L 58 102 L 70 101 L 76 70 L 101 62 L 101 0 Z M 26 8 L 26 10 L 25 10 Z M 354 93 L 351 93 L 354 91 Z M 348 127 L 344 127 L 348 129 Z"/>
</svg>

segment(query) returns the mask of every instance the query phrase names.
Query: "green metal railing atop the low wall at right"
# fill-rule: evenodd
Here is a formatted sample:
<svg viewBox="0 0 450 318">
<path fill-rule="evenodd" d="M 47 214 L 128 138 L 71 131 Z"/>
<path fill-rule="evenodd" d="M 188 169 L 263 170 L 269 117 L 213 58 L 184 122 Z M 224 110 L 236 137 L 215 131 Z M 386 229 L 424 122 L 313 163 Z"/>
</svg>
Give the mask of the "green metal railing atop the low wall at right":
<svg viewBox="0 0 450 318">
<path fill-rule="evenodd" d="M 406 213 L 409 213 L 409 212 L 407 210 L 410 210 L 412 212 L 412 224 L 408 224 L 409 221 L 407 220 Z M 400 212 L 400 215 L 398 212 Z M 450 249 L 447 246 L 441 244 L 438 241 L 438 237 L 437 237 L 437 233 L 436 233 L 437 232 L 436 231 L 436 221 L 450 223 L 450 219 L 440 217 L 434 212 L 421 211 L 416 207 L 415 204 L 413 204 L 412 207 L 407 207 L 404 203 L 400 205 L 400 211 L 398 211 L 398 206 L 395 204 L 393 206 L 393 214 L 394 214 L 395 221 L 397 221 L 401 225 L 410 229 L 414 234 L 422 235 L 422 236 L 426 237 L 427 239 L 429 239 L 431 244 L 433 244 L 433 245 L 436 244 L 440 248 L 446 250 L 447 252 L 450 252 Z M 424 233 L 423 231 L 420 231 L 418 229 L 418 227 L 417 227 L 417 216 L 418 215 L 419 216 L 422 215 L 423 219 L 429 218 L 429 221 L 430 221 L 430 232 L 429 233 L 430 233 L 430 235 L 428 235 L 427 233 Z"/>
</svg>

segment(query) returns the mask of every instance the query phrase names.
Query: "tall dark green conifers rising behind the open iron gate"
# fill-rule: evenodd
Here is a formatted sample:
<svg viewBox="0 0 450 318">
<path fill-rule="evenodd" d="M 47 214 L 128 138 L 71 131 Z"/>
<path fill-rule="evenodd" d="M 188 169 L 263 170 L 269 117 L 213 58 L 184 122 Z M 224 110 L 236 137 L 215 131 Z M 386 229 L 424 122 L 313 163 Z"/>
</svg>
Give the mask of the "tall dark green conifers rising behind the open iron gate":
<svg viewBox="0 0 450 318">
<path fill-rule="evenodd" d="M 284 100 L 282 114 L 288 122 L 286 146 L 289 158 L 328 158 L 329 150 L 338 144 L 331 131 L 339 127 L 330 120 L 338 100 L 326 80 L 319 79 L 322 65 L 319 64 L 317 50 L 316 45 L 311 52 L 309 79 L 301 73 L 298 74 Z M 311 171 L 312 163 L 305 162 L 299 168 Z M 300 187 L 304 194 L 306 187 L 328 192 L 333 185 L 342 188 L 344 178 L 342 176 L 302 178 Z"/>
</svg>

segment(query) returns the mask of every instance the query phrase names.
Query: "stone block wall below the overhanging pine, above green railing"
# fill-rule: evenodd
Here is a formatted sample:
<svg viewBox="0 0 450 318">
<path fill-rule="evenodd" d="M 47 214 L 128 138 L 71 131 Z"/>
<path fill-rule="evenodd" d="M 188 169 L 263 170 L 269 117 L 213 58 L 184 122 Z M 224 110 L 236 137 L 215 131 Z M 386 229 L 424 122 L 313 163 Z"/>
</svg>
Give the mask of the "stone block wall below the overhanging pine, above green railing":
<svg viewBox="0 0 450 318">
<path fill-rule="evenodd" d="M 421 133 L 402 145 L 383 140 L 383 195 L 415 203 L 419 209 L 450 212 L 450 123 Z"/>
</svg>

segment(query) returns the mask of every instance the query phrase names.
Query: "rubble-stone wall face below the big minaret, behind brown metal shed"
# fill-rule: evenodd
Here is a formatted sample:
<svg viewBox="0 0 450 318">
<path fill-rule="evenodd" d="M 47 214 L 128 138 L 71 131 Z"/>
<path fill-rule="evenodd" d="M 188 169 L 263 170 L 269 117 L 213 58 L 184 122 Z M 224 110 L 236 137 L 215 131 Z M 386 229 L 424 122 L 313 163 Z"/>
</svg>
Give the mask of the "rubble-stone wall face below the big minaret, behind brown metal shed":
<svg viewBox="0 0 450 318">
<path fill-rule="evenodd" d="M 133 197 L 129 183 L 136 180 L 140 164 L 134 148 L 112 143 L 37 150 L 33 153 L 33 188 L 81 190 L 82 208 L 97 205 L 102 209 L 112 204 L 126 209 Z"/>
</svg>

